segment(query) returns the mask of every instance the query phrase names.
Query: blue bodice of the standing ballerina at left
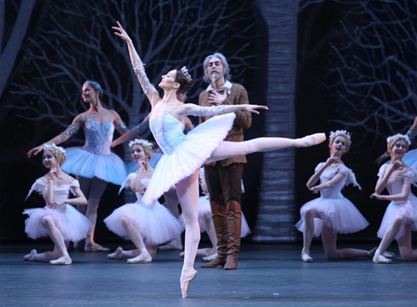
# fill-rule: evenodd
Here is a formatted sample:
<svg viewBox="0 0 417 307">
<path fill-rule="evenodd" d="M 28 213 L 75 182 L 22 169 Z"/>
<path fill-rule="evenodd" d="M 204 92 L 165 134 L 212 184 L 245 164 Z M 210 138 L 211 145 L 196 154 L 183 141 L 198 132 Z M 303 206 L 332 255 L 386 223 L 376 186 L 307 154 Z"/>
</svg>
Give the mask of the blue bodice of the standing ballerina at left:
<svg viewBox="0 0 417 307">
<path fill-rule="evenodd" d="M 84 126 L 85 144 L 83 149 L 99 156 L 111 154 L 110 145 L 114 131 L 115 126 L 110 120 L 99 124 L 88 119 Z"/>
</svg>

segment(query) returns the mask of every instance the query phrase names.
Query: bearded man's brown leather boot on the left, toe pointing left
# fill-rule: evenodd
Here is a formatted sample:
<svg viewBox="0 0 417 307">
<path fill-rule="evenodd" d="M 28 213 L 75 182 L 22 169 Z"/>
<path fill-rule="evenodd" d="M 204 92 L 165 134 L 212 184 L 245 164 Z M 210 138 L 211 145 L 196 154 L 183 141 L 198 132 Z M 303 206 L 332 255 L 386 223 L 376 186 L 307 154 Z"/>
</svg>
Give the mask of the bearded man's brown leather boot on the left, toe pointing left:
<svg viewBox="0 0 417 307">
<path fill-rule="evenodd" d="M 215 203 L 214 201 L 210 201 L 210 206 L 215 234 L 218 238 L 218 256 L 213 261 L 202 265 L 202 267 L 218 267 L 226 263 L 227 242 L 229 239 L 226 206 Z"/>
</svg>

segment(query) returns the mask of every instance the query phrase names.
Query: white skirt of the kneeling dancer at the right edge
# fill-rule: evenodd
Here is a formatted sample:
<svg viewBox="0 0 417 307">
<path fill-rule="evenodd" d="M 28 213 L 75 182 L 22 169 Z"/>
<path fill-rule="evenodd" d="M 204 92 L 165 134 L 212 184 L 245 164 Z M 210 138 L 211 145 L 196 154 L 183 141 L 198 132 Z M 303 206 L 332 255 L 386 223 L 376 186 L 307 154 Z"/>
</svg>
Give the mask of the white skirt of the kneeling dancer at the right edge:
<svg viewBox="0 0 417 307">
<path fill-rule="evenodd" d="M 382 217 L 381 226 L 377 232 L 378 238 L 383 238 L 384 234 L 389 226 L 393 224 L 393 218 L 395 215 L 404 215 L 413 221 L 411 224 L 411 231 L 417 231 L 417 197 L 413 194 L 409 194 L 409 199 L 402 204 L 392 201 L 388 207 L 386 207 L 384 217 Z M 401 238 L 405 233 L 405 226 L 401 226 L 400 231 L 395 236 L 395 240 Z"/>
</svg>

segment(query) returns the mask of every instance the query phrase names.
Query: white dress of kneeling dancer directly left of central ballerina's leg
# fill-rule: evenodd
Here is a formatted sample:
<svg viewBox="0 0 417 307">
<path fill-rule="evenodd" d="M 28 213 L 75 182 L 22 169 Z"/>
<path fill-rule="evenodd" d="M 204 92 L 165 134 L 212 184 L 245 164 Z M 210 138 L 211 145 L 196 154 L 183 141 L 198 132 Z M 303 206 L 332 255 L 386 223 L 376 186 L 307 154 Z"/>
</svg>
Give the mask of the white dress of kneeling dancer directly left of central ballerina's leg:
<svg viewBox="0 0 417 307">
<path fill-rule="evenodd" d="M 126 181 L 135 177 L 136 174 L 129 174 Z M 141 183 L 146 186 L 146 181 L 147 179 L 142 179 Z M 128 183 L 126 183 L 126 186 L 129 186 Z M 122 217 L 125 216 L 132 219 L 133 225 L 138 229 L 147 244 L 163 244 L 181 235 L 183 227 L 179 224 L 178 219 L 170 213 L 170 210 L 159 204 L 158 201 L 150 206 L 145 206 L 141 202 L 142 196 L 140 193 L 136 192 L 136 196 L 138 201 L 135 204 L 121 206 L 104 219 L 108 229 L 122 238 L 129 238 L 121 222 Z"/>
</svg>

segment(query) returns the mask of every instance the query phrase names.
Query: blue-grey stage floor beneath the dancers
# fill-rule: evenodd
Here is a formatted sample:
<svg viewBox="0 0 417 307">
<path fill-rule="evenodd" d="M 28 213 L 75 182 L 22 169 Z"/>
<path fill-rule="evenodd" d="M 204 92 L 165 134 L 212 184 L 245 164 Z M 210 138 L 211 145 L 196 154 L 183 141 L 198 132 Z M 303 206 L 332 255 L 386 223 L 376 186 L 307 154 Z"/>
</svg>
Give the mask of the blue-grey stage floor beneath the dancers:
<svg viewBox="0 0 417 307">
<path fill-rule="evenodd" d="M 136 265 L 72 246 L 72 265 L 22 260 L 31 249 L 51 247 L 39 241 L 1 244 L 0 306 L 417 306 L 417 263 L 400 260 L 395 244 L 391 265 L 328 261 L 320 244 L 312 247 L 313 263 L 302 262 L 298 244 L 243 244 L 234 271 L 204 269 L 197 258 L 198 276 L 187 299 L 179 288 L 178 251 L 158 251 L 152 263 Z"/>
</svg>

